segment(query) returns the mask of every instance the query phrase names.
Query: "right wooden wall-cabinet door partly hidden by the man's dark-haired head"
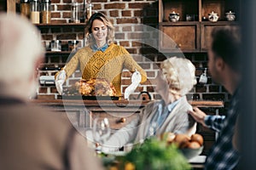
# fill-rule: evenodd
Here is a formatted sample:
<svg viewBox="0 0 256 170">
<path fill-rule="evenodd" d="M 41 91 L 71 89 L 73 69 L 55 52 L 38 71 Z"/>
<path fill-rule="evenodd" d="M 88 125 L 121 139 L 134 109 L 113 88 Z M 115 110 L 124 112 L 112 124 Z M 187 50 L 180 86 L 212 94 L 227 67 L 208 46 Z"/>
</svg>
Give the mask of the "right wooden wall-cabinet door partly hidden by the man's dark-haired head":
<svg viewBox="0 0 256 170">
<path fill-rule="evenodd" d="M 216 27 L 224 27 L 224 26 L 237 26 L 235 22 L 228 21 L 218 21 L 217 23 L 211 22 L 203 22 L 201 23 L 201 51 L 207 51 L 212 42 L 211 33 L 212 30 Z"/>
</svg>

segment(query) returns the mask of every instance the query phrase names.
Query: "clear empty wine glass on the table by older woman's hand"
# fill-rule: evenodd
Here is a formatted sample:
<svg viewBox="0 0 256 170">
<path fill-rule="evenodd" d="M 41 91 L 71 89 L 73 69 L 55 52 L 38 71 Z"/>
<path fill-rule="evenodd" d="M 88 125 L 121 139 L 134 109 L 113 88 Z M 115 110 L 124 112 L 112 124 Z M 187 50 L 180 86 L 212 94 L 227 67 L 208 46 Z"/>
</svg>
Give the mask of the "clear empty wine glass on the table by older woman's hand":
<svg viewBox="0 0 256 170">
<path fill-rule="evenodd" d="M 109 138 L 111 129 L 109 127 L 108 118 L 100 120 L 98 117 L 93 121 L 92 135 L 96 142 L 96 152 L 101 152 L 101 145 Z"/>
</svg>

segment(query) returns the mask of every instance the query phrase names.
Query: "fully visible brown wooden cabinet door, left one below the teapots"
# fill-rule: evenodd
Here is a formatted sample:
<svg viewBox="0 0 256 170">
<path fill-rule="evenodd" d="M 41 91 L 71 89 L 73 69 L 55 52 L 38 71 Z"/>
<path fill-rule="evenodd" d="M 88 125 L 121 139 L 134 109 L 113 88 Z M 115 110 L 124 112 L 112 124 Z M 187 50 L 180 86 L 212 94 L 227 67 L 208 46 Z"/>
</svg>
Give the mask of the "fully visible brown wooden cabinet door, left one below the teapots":
<svg viewBox="0 0 256 170">
<path fill-rule="evenodd" d="M 187 22 L 160 25 L 160 52 L 199 51 L 199 24 Z"/>
</svg>

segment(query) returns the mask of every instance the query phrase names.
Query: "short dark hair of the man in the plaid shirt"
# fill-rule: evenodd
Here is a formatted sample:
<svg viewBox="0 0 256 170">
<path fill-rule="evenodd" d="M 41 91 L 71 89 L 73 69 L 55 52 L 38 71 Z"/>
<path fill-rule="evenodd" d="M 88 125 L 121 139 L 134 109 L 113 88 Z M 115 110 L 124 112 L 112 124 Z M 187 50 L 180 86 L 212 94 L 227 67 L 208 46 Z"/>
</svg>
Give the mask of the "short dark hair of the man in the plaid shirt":
<svg viewBox="0 0 256 170">
<path fill-rule="evenodd" d="M 212 30 L 212 52 L 224 59 L 233 71 L 241 71 L 241 34 L 237 26 L 216 27 Z"/>
</svg>

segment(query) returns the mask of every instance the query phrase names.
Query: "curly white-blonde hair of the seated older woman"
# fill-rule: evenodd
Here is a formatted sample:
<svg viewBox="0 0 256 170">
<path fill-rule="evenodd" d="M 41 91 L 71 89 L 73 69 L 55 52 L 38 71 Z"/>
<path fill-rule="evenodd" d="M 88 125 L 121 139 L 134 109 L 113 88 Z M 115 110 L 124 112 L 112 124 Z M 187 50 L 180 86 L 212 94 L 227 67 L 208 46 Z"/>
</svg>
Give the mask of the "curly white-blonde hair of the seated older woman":
<svg viewBox="0 0 256 170">
<path fill-rule="evenodd" d="M 189 59 L 171 57 L 164 60 L 160 68 L 173 94 L 188 94 L 196 84 L 195 65 Z"/>
</svg>

